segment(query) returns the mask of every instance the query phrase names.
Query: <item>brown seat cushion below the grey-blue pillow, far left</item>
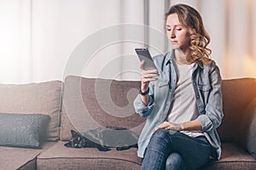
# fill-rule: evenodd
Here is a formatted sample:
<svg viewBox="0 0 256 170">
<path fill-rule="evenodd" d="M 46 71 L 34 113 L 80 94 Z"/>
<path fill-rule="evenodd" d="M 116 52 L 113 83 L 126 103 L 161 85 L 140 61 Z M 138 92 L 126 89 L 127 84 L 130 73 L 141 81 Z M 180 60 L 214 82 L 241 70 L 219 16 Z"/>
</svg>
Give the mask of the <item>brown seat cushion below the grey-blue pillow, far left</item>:
<svg viewBox="0 0 256 170">
<path fill-rule="evenodd" d="M 26 149 L 0 146 L 0 165 L 1 169 L 36 169 L 36 157 L 39 153 L 47 150 L 56 142 L 42 144 L 41 149 Z"/>
</svg>

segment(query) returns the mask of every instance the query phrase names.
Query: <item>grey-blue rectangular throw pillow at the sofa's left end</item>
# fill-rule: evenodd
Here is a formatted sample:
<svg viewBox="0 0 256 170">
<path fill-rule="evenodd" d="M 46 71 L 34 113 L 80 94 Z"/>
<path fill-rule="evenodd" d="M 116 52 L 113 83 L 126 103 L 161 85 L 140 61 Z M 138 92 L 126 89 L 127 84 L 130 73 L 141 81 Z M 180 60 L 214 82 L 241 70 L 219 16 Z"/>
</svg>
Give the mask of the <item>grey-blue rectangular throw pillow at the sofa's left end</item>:
<svg viewBox="0 0 256 170">
<path fill-rule="evenodd" d="M 0 113 L 0 145 L 38 148 L 48 124 L 43 114 Z"/>
</svg>

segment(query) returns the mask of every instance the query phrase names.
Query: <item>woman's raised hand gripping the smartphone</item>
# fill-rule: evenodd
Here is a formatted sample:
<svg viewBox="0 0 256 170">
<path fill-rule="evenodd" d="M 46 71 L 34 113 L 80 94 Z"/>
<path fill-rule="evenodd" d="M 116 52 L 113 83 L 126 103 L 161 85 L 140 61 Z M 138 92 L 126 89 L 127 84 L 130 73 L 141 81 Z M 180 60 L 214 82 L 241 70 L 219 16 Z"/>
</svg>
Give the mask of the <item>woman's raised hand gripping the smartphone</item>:
<svg viewBox="0 0 256 170">
<path fill-rule="evenodd" d="M 140 68 L 142 70 L 141 73 L 141 91 L 142 92 L 146 92 L 148 90 L 148 84 L 151 81 L 155 81 L 157 80 L 156 77 L 158 77 L 158 71 L 156 69 L 152 69 L 152 70 L 144 70 L 144 63 L 145 61 L 142 60 L 140 63 Z"/>
</svg>

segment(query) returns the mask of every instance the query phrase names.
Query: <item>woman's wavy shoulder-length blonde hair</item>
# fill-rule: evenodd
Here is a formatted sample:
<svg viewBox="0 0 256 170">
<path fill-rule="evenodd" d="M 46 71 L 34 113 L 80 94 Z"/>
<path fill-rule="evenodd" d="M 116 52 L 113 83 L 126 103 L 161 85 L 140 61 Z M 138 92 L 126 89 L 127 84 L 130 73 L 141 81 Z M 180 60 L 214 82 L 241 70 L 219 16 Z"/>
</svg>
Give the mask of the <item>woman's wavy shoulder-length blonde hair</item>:
<svg viewBox="0 0 256 170">
<path fill-rule="evenodd" d="M 166 20 L 170 14 L 177 14 L 179 22 L 189 28 L 189 48 L 191 49 L 191 55 L 187 59 L 189 63 L 201 61 L 203 64 L 209 65 L 212 50 L 207 48 L 207 45 L 211 42 L 211 38 L 205 30 L 201 14 L 195 8 L 185 4 L 173 5 L 166 12 Z"/>
</svg>

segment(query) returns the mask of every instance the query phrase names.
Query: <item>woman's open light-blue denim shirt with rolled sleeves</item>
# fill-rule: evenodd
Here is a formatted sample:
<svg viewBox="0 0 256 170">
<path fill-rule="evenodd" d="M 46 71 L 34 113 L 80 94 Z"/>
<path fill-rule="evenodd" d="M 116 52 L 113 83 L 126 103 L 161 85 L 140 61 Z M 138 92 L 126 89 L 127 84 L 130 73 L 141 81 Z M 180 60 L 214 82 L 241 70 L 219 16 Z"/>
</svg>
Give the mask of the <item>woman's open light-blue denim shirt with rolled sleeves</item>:
<svg viewBox="0 0 256 170">
<path fill-rule="evenodd" d="M 144 155 L 154 128 L 165 122 L 177 84 L 173 51 L 157 55 L 153 59 L 159 77 L 156 81 L 149 83 L 148 105 L 143 104 L 139 94 L 134 100 L 136 112 L 140 116 L 147 117 L 146 124 L 138 139 L 137 155 L 140 157 Z M 221 147 L 216 128 L 220 125 L 224 115 L 221 93 L 222 80 L 218 66 L 213 60 L 210 65 L 196 62 L 193 65 L 191 80 L 200 114 L 196 119 L 201 122 L 202 132 L 212 146 L 212 157 L 219 159 Z"/>
</svg>

